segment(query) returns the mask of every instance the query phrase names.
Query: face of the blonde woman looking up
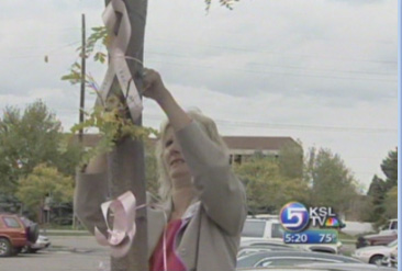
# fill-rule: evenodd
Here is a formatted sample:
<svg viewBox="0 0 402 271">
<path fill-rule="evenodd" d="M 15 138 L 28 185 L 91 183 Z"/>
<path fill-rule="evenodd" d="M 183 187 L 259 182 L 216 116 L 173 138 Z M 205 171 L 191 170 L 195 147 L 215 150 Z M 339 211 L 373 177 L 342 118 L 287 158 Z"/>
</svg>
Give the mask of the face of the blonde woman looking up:
<svg viewBox="0 0 402 271">
<path fill-rule="evenodd" d="M 186 163 L 185 157 L 181 154 L 181 147 L 176 140 L 176 136 L 171 127 L 166 129 L 164 138 L 164 161 L 168 174 L 172 181 L 178 179 L 190 179 L 190 170 Z"/>
</svg>

